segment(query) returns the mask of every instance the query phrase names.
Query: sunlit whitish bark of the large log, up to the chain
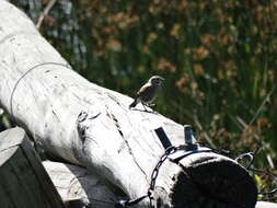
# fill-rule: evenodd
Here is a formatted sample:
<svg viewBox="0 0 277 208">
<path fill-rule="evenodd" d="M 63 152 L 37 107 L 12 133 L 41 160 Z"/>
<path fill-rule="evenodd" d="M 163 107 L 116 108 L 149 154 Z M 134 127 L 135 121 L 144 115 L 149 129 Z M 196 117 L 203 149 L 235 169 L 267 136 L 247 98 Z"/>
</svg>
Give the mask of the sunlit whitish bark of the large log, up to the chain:
<svg viewBox="0 0 277 208">
<path fill-rule="evenodd" d="M 0 105 L 45 151 L 89 167 L 131 198 L 147 193 L 164 152 L 153 130 L 163 127 L 173 145 L 183 143 L 181 125 L 129 111 L 130 97 L 77 74 L 30 19 L 3 0 L 0 55 Z M 170 166 L 157 182 L 165 190 L 180 171 Z"/>
</svg>

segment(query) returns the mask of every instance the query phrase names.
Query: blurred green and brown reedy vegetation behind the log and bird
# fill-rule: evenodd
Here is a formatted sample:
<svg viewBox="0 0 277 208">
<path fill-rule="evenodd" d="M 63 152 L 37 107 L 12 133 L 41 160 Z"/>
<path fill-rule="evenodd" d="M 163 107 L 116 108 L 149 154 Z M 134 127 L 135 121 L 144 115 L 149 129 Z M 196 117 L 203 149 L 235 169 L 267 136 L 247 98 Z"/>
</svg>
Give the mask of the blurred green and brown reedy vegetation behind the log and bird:
<svg viewBox="0 0 277 208">
<path fill-rule="evenodd" d="M 47 0 L 18 0 L 36 22 Z M 90 81 L 134 96 L 164 77 L 157 111 L 233 155 L 277 165 L 277 0 L 59 1 L 42 34 Z M 272 166 L 273 167 L 273 166 Z"/>
</svg>

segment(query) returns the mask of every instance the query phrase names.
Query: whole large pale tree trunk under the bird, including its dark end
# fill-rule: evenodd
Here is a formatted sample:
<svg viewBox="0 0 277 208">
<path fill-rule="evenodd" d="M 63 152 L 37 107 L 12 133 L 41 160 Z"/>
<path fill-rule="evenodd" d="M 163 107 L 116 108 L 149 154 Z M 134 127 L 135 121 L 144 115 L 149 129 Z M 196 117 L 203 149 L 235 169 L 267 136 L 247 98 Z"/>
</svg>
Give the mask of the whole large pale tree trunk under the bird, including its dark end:
<svg viewBox="0 0 277 208">
<path fill-rule="evenodd" d="M 142 106 L 129 111 L 131 99 L 77 74 L 33 23 L 5 1 L 0 1 L 0 105 L 48 153 L 86 166 L 130 198 L 146 195 L 154 184 L 159 189 L 154 192 L 155 207 L 191 206 L 191 196 L 194 207 L 201 196 L 201 207 L 222 205 L 222 200 L 229 205 L 226 207 L 254 207 L 252 178 L 226 157 L 206 152 L 177 163 L 162 161 L 152 175 L 166 143 L 159 140 L 155 129 L 162 127 L 172 145 L 180 146 L 184 143 L 183 127 L 160 114 L 145 112 Z M 224 186 L 217 183 L 218 177 Z M 234 182 L 234 188 L 228 189 Z M 212 198 L 221 190 L 213 189 L 217 185 L 226 188 L 219 201 Z M 212 187 L 213 193 L 199 192 L 199 187 Z M 243 192 L 249 194 L 246 198 L 240 194 L 242 187 L 247 187 Z M 149 201 L 139 205 L 148 207 Z"/>
</svg>

